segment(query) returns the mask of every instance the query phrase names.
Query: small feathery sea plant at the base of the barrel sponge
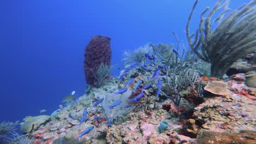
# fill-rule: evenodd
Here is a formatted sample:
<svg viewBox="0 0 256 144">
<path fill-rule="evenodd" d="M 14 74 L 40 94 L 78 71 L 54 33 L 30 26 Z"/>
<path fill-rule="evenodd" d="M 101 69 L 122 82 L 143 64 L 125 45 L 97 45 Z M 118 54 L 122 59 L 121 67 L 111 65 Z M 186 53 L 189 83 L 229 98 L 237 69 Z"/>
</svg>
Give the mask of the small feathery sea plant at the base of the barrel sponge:
<svg viewBox="0 0 256 144">
<path fill-rule="evenodd" d="M 112 69 L 112 65 L 101 63 L 98 67 L 92 70 L 92 74 L 98 81 L 98 85 L 101 87 L 104 78 L 106 78 Z"/>
</svg>

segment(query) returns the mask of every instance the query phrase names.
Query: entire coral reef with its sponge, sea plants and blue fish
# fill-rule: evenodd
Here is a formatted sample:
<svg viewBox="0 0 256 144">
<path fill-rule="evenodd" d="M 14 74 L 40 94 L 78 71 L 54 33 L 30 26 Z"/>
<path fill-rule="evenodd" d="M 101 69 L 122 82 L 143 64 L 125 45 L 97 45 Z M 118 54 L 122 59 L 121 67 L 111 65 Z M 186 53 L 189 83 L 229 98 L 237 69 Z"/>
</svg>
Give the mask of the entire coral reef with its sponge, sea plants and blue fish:
<svg viewBox="0 0 256 144">
<path fill-rule="evenodd" d="M 129 65 L 122 70 L 123 74 L 104 79 L 106 73 L 103 74 L 101 70 L 106 69 L 103 66 L 110 65 L 110 38 L 96 35 L 85 50 L 84 70 L 90 87 L 75 101 L 71 100 L 73 97 L 67 97 L 67 104 L 61 105 L 52 116 L 24 118 L 25 122 L 21 123 L 21 131 L 26 138 L 24 141 L 33 144 L 256 143 L 255 71 L 228 75 L 223 80 L 219 77 L 222 77 L 232 60 L 227 61 L 228 65 L 223 65 L 225 68 L 216 69 L 231 54 L 245 48 L 240 44 L 241 39 L 237 40 L 237 44 L 232 43 L 236 34 L 225 32 L 236 32 L 235 26 L 239 29 L 246 24 L 240 23 L 242 20 L 254 19 L 249 17 L 251 14 L 247 10 L 252 8 L 255 0 L 242 5 L 221 21 L 228 2 L 222 4 L 222 1 L 218 1 L 206 19 L 203 19 L 203 14 L 207 9 L 203 12 L 193 43 L 190 40 L 193 35 L 189 35 L 188 29 L 193 11 L 187 26 L 191 48 L 203 61 L 211 63 L 211 73 L 217 77 L 207 77 L 206 69 L 200 71 L 202 68 L 198 65 L 203 62 L 190 55 L 190 52 L 185 56 L 184 45 L 183 51 L 179 51 L 178 39 L 173 32 L 176 49 L 167 50 L 170 47 L 166 45 L 149 44 L 131 53 L 125 52 L 125 64 Z M 212 14 L 223 7 L 224 12 L 216 20 L 220 24 L 211 32 L 209 22 Z M 245 15 L 241 18 L 238 14 Z M 241 21 L 236 21 L 239 18 Z M 232 25 L 231 21 L 236 25 Z M 251 26 L 251 23 L 247 24 Z M 247 32 L 241 30 L 240 34 Z M 252 34 L 243 41 L 248 47 L 245 51 L 251 50 L 251 37 Z M 208 43 L 208 40 L 212 40 L 212 43 Z M 219 42 L 222 43 L 217 45 Z M 202 53 L 198 51 L 200 46 Z M 234 52 L 227 50 L 230 46 Z M 164 55 L 165 52 L 168 54 Z M 208 52 L 212 52 L 211 55 L 207 55 Z M 224 55 L 221 52 L 228 53 Z M 213 59 L 215 56 L 220 62 Z M 102 75 L 97 76 L 96 73 Z M 101 85 L 103 79 L 104 85 Z M 97 85 L 100 87 L 95 87 Z M 0 136 L 1 132 L 0 129 Z"/>
</svg>

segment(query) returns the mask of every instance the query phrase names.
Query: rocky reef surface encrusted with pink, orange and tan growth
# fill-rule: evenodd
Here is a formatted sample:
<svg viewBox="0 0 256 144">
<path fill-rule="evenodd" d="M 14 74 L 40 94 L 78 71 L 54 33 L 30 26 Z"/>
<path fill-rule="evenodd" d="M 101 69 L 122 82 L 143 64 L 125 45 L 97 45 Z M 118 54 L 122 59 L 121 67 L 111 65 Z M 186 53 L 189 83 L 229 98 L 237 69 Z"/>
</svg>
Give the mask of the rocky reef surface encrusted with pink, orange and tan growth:
<svg viewBox="0 0 256 144">
<path fill-rule="evenodd" d="M 134 69 L 129 77 L 135 77 L 135 81 L 147 77 L 136 73 Z M 106 93 L 124 87 L 123 82 L 109 77 L 104 86 L 92 88 L 90 93 L 67 104 L 27 135 L 34 137 L 33 143 L 255 143 L 256 88 L 247 87 L 241 74 L 225 81 L 200 79 L 206 91 L 203 98 L 184 92 L 178 108 L 170 99 L 156 98 L 156 88 L 146 89 L 141 101 L 133 104 L 133 110 L 114 119 L 112 127 L 108 127 L 101 105 L 90 106 Z M 131 84 L 129 89 L 134 87 L 135 84 Z M 136 93 L 130 97 L 133 95 Z M 170 109 L 162 109 L 166 108 L 164 105 Z M 87 118 L 78 126 L 85 108 L 88 110 Z M 102 119 L 97 120 L 96 116 Z M 168 123 L 162 133 L 159 131 L 161 121 Z M 94 129 L 78 140 L 77 137 L 88 127 Z"/>
</svg>

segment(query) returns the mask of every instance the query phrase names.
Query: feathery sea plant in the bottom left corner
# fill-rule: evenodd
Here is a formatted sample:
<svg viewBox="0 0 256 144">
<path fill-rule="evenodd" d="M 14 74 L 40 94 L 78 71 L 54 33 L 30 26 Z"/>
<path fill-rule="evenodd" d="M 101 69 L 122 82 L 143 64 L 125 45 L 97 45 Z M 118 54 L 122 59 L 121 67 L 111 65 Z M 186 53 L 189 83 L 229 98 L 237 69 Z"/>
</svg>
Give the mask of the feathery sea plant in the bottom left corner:
<svg viewBox="0 0 256 144">
<path fill-rule="evenodd" d="M 18 135 L 15 130 L 19 121 L 13 122 L 2 122 L 0 124 L 0 143 L 14 140 Z"/>
</svg>

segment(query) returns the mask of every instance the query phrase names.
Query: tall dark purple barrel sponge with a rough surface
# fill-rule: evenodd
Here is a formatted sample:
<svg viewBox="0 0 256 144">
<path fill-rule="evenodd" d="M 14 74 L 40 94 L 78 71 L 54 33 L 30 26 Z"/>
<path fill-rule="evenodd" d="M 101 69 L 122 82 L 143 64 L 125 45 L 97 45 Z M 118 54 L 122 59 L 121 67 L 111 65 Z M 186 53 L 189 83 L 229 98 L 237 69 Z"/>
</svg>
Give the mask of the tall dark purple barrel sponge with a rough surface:
<svg viewBox="0 0 256 144">
<path fill-rule="evenodd" d="M 97 79 L 92 74 L 92 70 L 101 63 L 110 65 L 110 38 L 102 35 L 94 35 L 85 48 L 84 57 L 85 80 L 90 86 L 94 87 Z"/>
</svg>

